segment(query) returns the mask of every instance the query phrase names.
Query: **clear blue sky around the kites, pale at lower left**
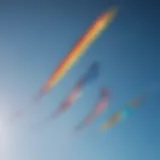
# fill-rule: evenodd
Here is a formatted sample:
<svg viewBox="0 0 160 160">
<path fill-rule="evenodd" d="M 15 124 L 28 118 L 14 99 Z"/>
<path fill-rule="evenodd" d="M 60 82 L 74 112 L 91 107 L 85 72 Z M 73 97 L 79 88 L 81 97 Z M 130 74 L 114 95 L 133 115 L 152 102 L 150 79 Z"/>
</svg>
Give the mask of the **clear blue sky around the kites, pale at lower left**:
<svg viewBox="0 0 160 160">
<path fill-rule="evenodd" d="M 78 37 L 114 4 L 120 6 L 115 21 L 86 55 L 45 96 L 39 108 L 1 132 L 1 160 L 160 159 L 159 95 L 123 123 L 108 132 L 99 131 L 116 109 L 160 81 L 159 4 L 154 0 L 0 3 L 1 119 L 16 108 L 27 107 Z M 30 130 L 30 125 L 56 108 L 94 60 L 101 63 L 100 77 L 73 108 L 44 130 Z M 96 103 L 101 87 L 111 91 L 108 110 L 77 137 L 67 139 L 68 131 Z"/>
</svg>

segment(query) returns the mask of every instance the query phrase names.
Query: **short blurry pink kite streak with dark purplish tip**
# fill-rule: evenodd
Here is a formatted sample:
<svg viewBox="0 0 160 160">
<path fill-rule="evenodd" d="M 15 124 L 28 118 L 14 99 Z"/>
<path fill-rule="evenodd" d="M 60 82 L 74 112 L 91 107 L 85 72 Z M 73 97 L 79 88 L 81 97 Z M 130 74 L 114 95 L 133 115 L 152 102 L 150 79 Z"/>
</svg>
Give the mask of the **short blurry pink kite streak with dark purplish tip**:
<svg viewBox="0 0 160 160">
<path fill-rule="evenodd" d="M 82 130 L 85 126 L 89 125 L 95 117 L 99 116 L 106 106 L 109 104 L 109 93 L 106 89 L 101 90 L 100 99 L 91 112 L 84 118 L 84 120 L 74 128 L 73 133 Z"/>
</svg>

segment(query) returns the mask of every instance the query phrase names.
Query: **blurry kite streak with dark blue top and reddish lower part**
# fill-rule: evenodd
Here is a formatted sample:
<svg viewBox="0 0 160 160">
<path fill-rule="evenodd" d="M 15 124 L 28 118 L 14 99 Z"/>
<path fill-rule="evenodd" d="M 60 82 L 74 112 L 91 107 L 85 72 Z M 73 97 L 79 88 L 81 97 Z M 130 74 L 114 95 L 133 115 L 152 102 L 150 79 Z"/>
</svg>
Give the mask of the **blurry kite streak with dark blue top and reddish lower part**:
<svg viewBox="0 0 160 160">
<path fill-rule="evenodd" d="M 62 101 L 62 103 L 59 105 L 56 111 L 51 113 L 50 117 L 47 117 L 46 122 L 57 118 L 60 114 L 69 109 L 78 100 L 83 88 L 99 77 L 99 67 L 100 66 L 97 61 L 94 61 L 92 63 L 87 72 L 75 84 L 71 92 Z"/>
</svg>

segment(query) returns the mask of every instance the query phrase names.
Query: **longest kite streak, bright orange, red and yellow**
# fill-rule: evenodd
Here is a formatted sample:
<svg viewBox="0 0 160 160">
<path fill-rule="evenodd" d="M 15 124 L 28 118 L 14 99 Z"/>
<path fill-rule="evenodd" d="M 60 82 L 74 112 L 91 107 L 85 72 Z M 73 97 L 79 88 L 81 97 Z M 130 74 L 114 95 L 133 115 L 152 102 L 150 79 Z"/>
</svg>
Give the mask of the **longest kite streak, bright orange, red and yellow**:
<svg viewBox="0 0 160 160">
<path fill-rule="evenodd" d="M 113 18 L 116 15 L 117 7 L 112 7 L 108 11 L 100 15 L 88 30 L 80 37 L 80 39 L 74 44 L 66 57 L 60 62 L 58 67 L 53 71 L 49 79 L 42 86 L 36 101 L 41 99 L 45 93 L 47 93 L 52 87 L 54 87 L 72 67 L 74 63 L 82 56 L 92 42 L 100 35 L 100 33 L 108 27 Z"/>
</svg>

